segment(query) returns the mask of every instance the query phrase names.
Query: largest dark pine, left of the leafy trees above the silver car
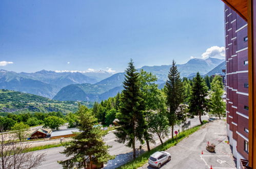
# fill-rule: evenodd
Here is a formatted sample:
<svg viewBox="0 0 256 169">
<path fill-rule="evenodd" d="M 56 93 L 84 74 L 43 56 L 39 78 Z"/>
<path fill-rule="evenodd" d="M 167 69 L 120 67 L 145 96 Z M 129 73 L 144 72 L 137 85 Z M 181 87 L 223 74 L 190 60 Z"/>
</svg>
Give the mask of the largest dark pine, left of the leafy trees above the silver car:
<svg viewBox="0 0 256 169">
<path fill-rule="evenodd" d="M 145 104 L 140 90 L 140 75 L 129 62 L 126 70 L 123 96 L 121 98 L 120 113 L 117 113 L 120 127 L 116 129 L 117 142 L 125 143 L 133 149 L 133 159 L 136 157 L 135 140 L 143 143 L 145 132 L 144 110 Z"/>
</svg>

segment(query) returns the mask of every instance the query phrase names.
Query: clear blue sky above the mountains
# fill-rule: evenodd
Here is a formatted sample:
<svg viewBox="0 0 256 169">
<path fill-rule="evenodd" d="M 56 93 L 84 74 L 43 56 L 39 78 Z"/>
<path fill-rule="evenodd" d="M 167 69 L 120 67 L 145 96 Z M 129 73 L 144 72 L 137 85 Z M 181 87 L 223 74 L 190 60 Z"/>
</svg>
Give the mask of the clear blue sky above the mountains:
<svg viewBox="0 0 256 169">
<path fill-rule="evenodd" d="M 122 72 L 130 58 L 140 68 L 223 57 L 223 8 L 220 0 L 2 0 L 0 69 Z"/>
</svg>

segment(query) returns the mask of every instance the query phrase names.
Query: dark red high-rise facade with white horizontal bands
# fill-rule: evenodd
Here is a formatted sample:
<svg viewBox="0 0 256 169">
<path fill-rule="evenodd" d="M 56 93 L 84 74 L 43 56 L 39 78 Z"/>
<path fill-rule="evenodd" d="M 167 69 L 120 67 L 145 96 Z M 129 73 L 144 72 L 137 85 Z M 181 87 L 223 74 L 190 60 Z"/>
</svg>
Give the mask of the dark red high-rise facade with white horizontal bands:
<svg viewBox="0 0 256 169">
<path fill-rule="evenodd" d="M 227 136 L 233 156 L 248 160 L 247 22 L 225 5 Z"/>
</svg>

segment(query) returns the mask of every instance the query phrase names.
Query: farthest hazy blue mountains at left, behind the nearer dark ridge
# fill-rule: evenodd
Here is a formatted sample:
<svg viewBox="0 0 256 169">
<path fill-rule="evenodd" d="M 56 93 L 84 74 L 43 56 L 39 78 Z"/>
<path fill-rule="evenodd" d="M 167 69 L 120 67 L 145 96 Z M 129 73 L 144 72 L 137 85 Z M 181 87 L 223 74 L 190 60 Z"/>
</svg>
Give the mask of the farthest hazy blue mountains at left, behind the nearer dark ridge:
<svg viewBox="0 0 256 169">
<path fill-rule="evenodd" d="M 86 74 L 90 75 L 87 76 Z M 103 75 L 104 74 L 104 75 Z M 94 77 L 94 75 L 99 75 Z M 0 89 L 20 91 L 47 98 L 53 98 L 63 87 L 71 84 L 95 83 L 103 76 L 109 77 L 107 72 L 61 72 L 38 71 L 34 73 L 16 73 L 0 70 Z M 102 77 L 101 77 L 102 76 Z"/>
</svg>

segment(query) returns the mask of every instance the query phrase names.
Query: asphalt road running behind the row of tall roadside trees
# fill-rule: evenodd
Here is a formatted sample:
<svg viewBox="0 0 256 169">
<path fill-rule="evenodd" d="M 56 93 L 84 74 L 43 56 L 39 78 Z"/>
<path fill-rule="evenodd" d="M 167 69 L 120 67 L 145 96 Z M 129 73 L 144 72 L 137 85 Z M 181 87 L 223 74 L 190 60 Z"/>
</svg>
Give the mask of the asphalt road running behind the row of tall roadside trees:
<svg viewBox="0 0 256 169">
<path fill-rule="evenodd" d="M 203 116 L 202 120 L 207 120 L 208 116 Z M 199 125 L 200 121 L 198 117 L 193 119 L 189 119 L 191 121 L 191 127 L 195 125 Z M 176 126 L 175 130 L 178 130 L 179 126 Z M 181 129 L 181 128 L 180 128 Z M 156 144 L 150 144 L 150 147 L 154 147 L 160 144 L 159 138 L 154 136 L 156 140 Z M 167 138 L 168 139 L 168 138 Z M 131 160 L 132 154 L 130 153 L 132 149 L 130 147 L 125 146 L 124 144 L 115 142 L 115 135 L 113 133 L 109 133 L 105 136 L 104 141 L 111 145 L 112 147 L 109 149 L 109 153 L 111 155 L 116 155 L 114 160 L 110 160 L 105 168 L 115 168 L 118 167 L 127 161 Z M 136 142 L 136 148 L 139 148 L 140 142 Z M 143 145 L 144 149 L 146 150 L 146 145 Z M 36 151 L 35 153 L 45 153 L 46 154 L 46 161 L 42 163 L 42 165 L 38 168 L 62 168 L 57 161 L 66 159 L 65 155 L 60 154 L 64 150 L 64 147 L 54 147 L 51 149 Z"/>
</svg>

